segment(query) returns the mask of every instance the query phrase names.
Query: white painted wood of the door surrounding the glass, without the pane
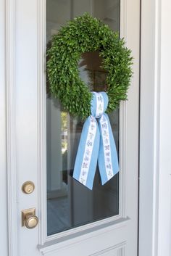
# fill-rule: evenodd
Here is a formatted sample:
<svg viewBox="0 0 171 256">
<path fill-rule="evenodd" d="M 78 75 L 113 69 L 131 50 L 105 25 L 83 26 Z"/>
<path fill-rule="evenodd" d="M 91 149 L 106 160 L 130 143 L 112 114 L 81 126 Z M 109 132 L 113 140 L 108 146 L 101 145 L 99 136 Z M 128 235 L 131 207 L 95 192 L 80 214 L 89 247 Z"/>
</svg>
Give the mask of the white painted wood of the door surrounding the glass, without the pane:
<svg viewBox="0 0 171 256">
<path fill-rule="evenodd" d="M 46 91 L 45 91 L 45 0 L 15 0 L 15 65 L 9 59 L 15 87 L 10 98 L 9 153 L 15 154 L 13 166 L 17 168 L 17 180 L 9 178 L 9 187 L 17 189 L 17 238 L 16 256 L 43 255 L 137 255 L 138 214 L 138 38 L 139 1 L 121 1 L 121 34 L 133 51 L 134 77 L 129 91 L 129 101 L 121 104 L 120 127 L 120 215 L 96 223 L 87 224 L 61 234 L 46 237 Z M 132 6 L 133 4 L 133 6 Z M 135 12 L 132 12 L 132 7 Z M 10 16 L 11 17 L 11 16 Z M 13 17 L 13 16 L 12 16 Z M 136 22 L 135 22 L 136 21 Z M 124 28 L 124 29 L 123 29 Z M 132 29 L 134 28 L 134 29 Z M 12 33 L 12 35 L 13 35 Z M 133 40 L 133 35 L 135 40 Z M 10 34 L 11 36 L 11 34 Z M 13 48 L 12 48 L 13 49 Z M 13 51 L 12 51 L 13 53 Z M 11 55 L 10 55 L 11 56 Z M 12 55 L 13 56 L 13 55 Z M 15 67 L 15 72 L 14 68 Z M 11 88 L 11 87 L 10 87 Z M 12 87 L 13 88 L 13 87 Z M 10 94 L 11 95 L 11 94 Z M 11 105 L 8 104 L 10 107 Z M 132 115 L 133 113 L 133 115 Z M 10 155 L 10 154 L 9 154 Z M 12 170 L 12 169 L 10 169 Z M 15 172 L 11 175 L 15 175 Z M 11 177 L 11 176 L 9 176 Z M 22 183 L 31 180 L 36 189 L 33 194 L 23 194 Z M 14 186 L 15 185 L 15 186 Z M 9 188 L 9 192 L 10 192 Z M 12 194 L 15 197 L 15 193 Z M 12 200 L 11 197 L 10 199 Z M 13 201 L 12 201 L 13 202 Z M 9 205 L 10 210 L 11 205 Z M 22 209 L 36 207 L 40 220 L 33 230 L 21 227 Z M 130 220 L 128 220 L 129 217 Z M 14 221 L 14 220 L 13 220 Z M 9 219 L 9 226 L 12 219 Z M 132 232 L 132 233 L 131 233 Z M 131 233 L 131 236 L 130 236 Z M 28 242 L 29 241 L 29 242 Z M 126 241 L 126 244 L 125 244 Z M 125 249 L 116 251 L 118 244 Z M 38 248 L 37 248 L 38 247 Z M 83 248 L 85 248 L 83 250 Z M 108 253 L 108 249 L 113 251 Z M 106 250 L 106 251 L 105 251 Z"/>
</svg>

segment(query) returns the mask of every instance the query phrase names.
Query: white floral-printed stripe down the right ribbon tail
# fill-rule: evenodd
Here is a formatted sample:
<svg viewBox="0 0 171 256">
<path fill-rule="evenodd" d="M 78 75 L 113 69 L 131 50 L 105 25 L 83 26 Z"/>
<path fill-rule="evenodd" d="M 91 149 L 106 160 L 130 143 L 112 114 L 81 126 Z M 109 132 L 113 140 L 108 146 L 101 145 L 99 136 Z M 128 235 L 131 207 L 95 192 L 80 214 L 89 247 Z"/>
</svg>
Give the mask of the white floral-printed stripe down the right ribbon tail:
<svg viewBox="0 0 171 256">
<path fill-rule="evenodd" d="M 110 140 L 109 140 L 109 127 L 107 118 L 103 115 L 100 120 L 101 124 L 101 133 L 103 139 L 104 146 L 104 162 L 105 162 L 105 170 L 107 173 L 107 180 L 114 176 L 113 168 L 112 168 L 112 157 L 111 157 L 111 148 L 110 148 Z"/>
</svg>

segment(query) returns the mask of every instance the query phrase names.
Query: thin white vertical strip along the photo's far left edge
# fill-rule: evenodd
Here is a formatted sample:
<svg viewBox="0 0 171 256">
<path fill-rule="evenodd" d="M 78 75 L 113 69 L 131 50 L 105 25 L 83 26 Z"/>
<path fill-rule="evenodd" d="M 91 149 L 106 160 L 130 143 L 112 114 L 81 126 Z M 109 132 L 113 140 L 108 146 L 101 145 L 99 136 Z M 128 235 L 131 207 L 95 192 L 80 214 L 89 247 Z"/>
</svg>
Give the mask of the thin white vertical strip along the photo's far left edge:
<svg viewBox="0 0 171 256">
<path fill-rule="evenodd" d="M 6 47 L 5 47 L 5 1 L 0 1 L 0 248 L 1 255 L 8 255 L 7 214 L 7 133 L 6 133 Z"/>
</svg>

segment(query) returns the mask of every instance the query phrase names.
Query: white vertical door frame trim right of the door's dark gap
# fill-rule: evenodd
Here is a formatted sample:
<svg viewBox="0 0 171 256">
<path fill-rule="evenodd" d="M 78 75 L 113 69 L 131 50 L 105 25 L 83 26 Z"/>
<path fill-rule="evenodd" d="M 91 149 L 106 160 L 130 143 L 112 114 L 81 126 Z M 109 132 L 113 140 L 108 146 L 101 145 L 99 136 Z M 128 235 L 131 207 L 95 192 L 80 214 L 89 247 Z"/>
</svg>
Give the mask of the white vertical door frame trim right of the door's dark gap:
<svg viewBox="0 0 171 256">
<path fill-rule="evenodd" d="M 160 10 L 160 0 L 141 1 L 139 256 L 158 255 Z"/>
</svg>

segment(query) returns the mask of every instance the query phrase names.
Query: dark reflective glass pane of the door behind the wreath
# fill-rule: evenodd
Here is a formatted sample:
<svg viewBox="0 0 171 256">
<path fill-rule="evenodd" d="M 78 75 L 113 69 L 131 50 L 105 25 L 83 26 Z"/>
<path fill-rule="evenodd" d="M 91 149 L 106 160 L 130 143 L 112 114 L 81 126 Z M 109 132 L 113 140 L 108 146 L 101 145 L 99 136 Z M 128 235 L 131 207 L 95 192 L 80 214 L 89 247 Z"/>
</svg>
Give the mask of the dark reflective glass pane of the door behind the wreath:
<svg viewBox="0 0 171 256">
<path fill-rule="evenodd" d="M 119 0 L 46 0 L 46 43 L 67 20 L 89 12 L 120 29 Z M 99 52 L 85 53 L 78 63 L 80 77 L 91 91 L 104 91 L 105 70 Z M 99 170 L 93 190 L 72 178 L 83 122 L 64 111 L 59 100 L 49 94 L 47 84 L 47 231 L 58 232 L 108 218 L 119 213 L 119 175 L 101 186 Z M 114 139 L 119 149 L 119 110 L 109 115 Z"/>
</svg>

